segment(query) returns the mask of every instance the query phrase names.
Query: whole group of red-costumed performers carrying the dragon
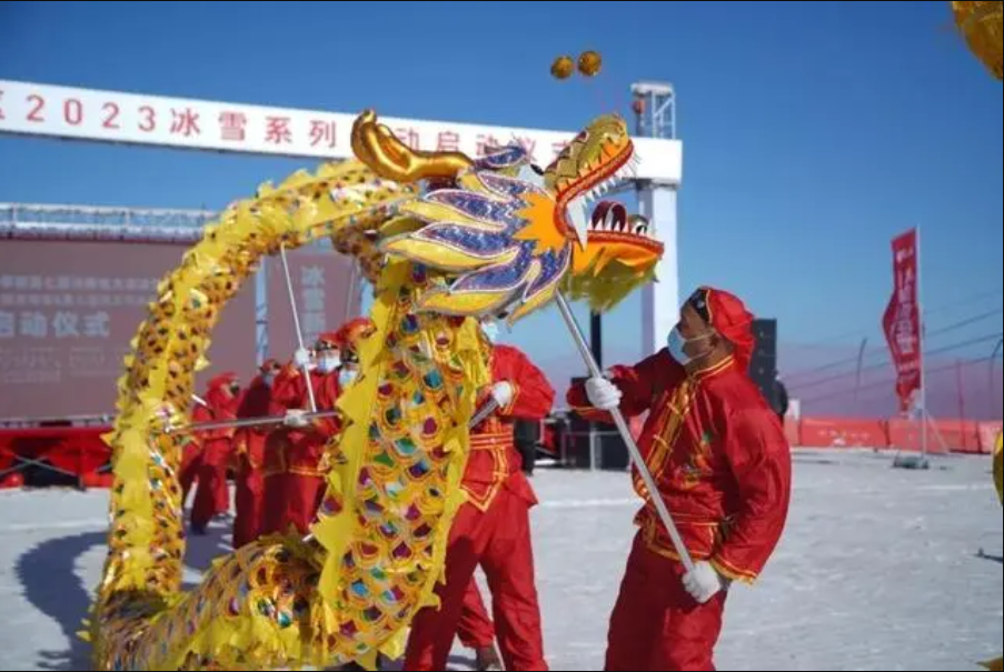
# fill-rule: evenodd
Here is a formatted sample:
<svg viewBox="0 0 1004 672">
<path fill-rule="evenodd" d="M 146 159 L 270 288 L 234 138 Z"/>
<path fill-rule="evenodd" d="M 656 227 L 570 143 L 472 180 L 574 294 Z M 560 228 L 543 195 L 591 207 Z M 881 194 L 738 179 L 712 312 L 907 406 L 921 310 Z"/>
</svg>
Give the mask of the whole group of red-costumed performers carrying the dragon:
<svg viewBox="0 0 1004 672">
<path fill-rule="evenodd" d="M 638 447 L 673 513 L 695 566 L 683 568 L 637 471 L 646 504 L 610 616 L 606 670 L 713 670 L 725 602 L 735 581 L 752 583 L 784 529 L 791 455 L 784 430 L 748 375 L 753 315 L 727 292 L 699 288 L 680 310 L 666 348 L 632 367 L 573 385 L 566 400 L 596 422 L 615 408 L 644 419 Z M 517 421 L 540 421 L 555 391 L 520 350 L 497 344 L 497 324 L 481 324 L 494 382 L 484 400 L 495 411 L 471 430 L 451 529 L 440 604 L 411 623 L 405 670 L 445 670 L 454 641 L 476 652 L 477 669 L 547 670 L 534 570 L 530 509 L 537 498 L 517 450 Z M 356 347 L 371 324 L 354 320 L 322 334 L 291 362 L 265 362 L 243 390 L 235 374 L 213 378 L 193 421 L 284 417 L 281 424 L 198 434 L 185 449 L 181 481 L 193 533 L 229 511 L 227 471 L 236 472 L 233 545 L 259 535 L 308 533 L 324 492 L 321 455 L 334 410 L 358 373 Z M 481 568 L 490 615 L 475 573 Z"/>
</svg>

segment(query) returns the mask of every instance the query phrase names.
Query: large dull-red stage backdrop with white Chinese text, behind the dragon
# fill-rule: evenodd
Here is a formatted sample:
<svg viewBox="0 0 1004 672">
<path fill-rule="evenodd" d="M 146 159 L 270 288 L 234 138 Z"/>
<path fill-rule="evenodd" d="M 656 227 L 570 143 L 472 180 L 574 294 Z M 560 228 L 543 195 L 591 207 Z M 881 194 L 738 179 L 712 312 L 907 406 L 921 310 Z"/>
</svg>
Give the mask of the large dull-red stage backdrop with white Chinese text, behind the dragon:
<svg viewBox="0 0 1004 672">
<path fill-rule="evenodd" d="M 0 417 L 112 413 L 122 359 L 173 244 L 4 240 L 0 244 Z M 249 282 L 220 315 L 211 374 L 255 369 L 255 292 Z"/>
</svg>

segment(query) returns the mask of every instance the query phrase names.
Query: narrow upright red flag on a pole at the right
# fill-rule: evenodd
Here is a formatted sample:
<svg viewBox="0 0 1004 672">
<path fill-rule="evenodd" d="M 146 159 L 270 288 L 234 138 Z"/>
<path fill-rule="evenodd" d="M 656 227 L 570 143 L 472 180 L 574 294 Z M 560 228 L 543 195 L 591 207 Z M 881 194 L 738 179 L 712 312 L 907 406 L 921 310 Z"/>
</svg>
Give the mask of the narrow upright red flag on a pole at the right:
<svg viewBox="0 0 1004 672">
<path fill-rule="evenodd" d="M 882 318 L 885 340 L 896 367 L 896 394 L 903 412 L 921 390 L 921 311 L 917 305 L 917 231 L 893 239 L 894 290 Z"/>
</svg>

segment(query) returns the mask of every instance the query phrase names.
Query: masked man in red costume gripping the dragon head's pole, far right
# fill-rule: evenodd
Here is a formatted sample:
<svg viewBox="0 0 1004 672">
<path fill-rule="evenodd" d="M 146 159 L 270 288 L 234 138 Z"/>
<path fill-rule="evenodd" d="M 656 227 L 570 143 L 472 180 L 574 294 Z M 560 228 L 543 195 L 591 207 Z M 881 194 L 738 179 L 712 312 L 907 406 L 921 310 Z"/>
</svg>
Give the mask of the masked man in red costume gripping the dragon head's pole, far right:
<svg viewBox="0 0 1004 672">
<path fill-rule="evenodd" d="M 749 379 L 753 317 L 733 294 L 699 288 L 668 348 L 574 387 L 568 403 L 609 422 L 648 411 L 638 448 L 694 558 L 684 571 L 655 508 L 610 616 L 606 670 L 714 670 L 730 582 L 752 583 L 787 518 L 792 463 L 777 415 Z M 635 489 L 648 499 L 637 472 Z"/>
</svg>

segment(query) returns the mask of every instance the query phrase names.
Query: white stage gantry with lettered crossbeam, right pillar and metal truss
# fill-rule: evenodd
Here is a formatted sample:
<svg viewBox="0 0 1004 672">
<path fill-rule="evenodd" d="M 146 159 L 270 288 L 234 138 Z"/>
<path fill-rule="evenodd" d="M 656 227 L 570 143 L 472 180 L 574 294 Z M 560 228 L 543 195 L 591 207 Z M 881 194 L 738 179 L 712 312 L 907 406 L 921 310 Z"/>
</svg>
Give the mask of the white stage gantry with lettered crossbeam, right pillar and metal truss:
<svg viewBox="0 0 1004 672">
<path fill-rule="evenodd" d="M 640 167 L 633 183 L 642 214 L 665 245 L 658 282 L 643 294 L 644 354 L 662 347 L 676 321 L 678 298 L 677 202 L 683 178 L 683 143 L 676 139 L 675 97 L 663 83 L 639 83 L 635 98 Z M 384 112 L 384 110 L 381 110 Z M 355 114 L 255 104 L 165 98 L 0 80 L 0 133 L 337 161 L 351 158 Z M 414 149 L 459 150 L 471 157 L 519 142 L 541 166 L 574 133 L 470 123 L 384 118 Z M 156 241 L 189 244 L 213 213 L 138 211 L 47 205 L 4 205 L 3 238 Z M 256 287 L 258 353 L 267 351 L 269 302 L 265 273 Z M 356 293 L 356 289 L 348 291 Z M 285 310 L 285 309 L 282 309 Z M 285 313 L 281 313 L 285 314 Z"/>
</svg>

